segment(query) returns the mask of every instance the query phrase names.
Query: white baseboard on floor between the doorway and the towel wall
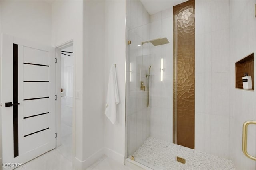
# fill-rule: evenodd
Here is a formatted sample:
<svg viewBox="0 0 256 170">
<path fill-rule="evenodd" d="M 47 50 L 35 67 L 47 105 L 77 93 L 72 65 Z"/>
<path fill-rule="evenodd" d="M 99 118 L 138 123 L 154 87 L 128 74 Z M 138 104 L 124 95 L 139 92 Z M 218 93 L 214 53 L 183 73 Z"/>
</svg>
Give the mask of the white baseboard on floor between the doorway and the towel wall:
<svg viewBox="0 0 256 170">
<path fill-rule="evenodd" d="M 98 161 L 102 156 L 104 156 L 104 148 L 98 150 L 97 152 L 95 152 L 94 154 L 89 156 L 89 158 L 87 158 L 86 160 L 83 160 L 83 161 L 81 161 L 75 157 L 74 158 L 75 169 L 76 170 L 84 170 L 84 169 L 88 168 L 89 166 L 91 166 L 92 164 L 94 164 L 96 161 Z"/>
</svg>

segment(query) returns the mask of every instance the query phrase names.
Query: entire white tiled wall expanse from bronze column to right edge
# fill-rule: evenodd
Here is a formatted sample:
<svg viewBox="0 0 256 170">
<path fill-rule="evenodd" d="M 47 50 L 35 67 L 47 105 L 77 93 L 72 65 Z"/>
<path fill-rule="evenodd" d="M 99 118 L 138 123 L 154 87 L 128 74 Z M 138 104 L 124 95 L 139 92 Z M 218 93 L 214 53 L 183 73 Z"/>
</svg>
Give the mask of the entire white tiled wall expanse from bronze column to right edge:
<svg viewBox="0 0 256 170">
<path fill-rule="evenodd" d="M 255 169 L 242 153 L 242 125 L 256 119 L 256 95 L 235 89 L 235 62 L 256 50 L 255 30 L 255 0 L 196 1 L 195 149 L 228 158 L 238 170 Z M 255 132 L 251 126 L 252 155 Z"/>
</svg>

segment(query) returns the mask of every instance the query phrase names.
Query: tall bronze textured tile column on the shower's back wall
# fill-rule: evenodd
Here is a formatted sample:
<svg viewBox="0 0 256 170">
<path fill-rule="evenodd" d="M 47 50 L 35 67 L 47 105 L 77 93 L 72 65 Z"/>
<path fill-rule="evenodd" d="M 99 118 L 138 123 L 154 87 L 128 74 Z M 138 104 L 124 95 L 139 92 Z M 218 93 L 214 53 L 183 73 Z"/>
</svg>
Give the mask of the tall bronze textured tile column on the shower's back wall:
<svg viewBox="0 0 256 170">
<path fill-rule="evenodd" d="M 174 11 L 174 143 L 194 149 L 195 138 L 195 1 Z"/>
</svg>

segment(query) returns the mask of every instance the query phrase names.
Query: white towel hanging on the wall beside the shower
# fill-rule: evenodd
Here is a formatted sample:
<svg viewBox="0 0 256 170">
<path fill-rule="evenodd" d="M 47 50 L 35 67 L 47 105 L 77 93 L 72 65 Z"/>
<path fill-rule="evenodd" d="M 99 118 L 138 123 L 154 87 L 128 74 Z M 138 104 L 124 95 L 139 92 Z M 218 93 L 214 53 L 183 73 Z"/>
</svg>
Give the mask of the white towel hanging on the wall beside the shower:
<svg viewBox="0 0 256 170">
<path fill-rule="evenodd" d="M 106 98 L 105 115 L 112 124 L 116 122 L 116 105 L 119 103 L 118 86 L 116 79 L 116 66 L 112 64 L 108 78 L 108 92 Z"/>
</svg>

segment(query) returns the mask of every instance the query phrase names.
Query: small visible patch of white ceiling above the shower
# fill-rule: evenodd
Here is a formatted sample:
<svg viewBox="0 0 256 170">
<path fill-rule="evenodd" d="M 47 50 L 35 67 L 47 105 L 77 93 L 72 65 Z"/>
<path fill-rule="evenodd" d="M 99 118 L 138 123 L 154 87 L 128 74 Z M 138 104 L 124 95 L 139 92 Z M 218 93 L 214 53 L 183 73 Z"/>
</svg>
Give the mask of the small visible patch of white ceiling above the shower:
<svg viewBox="0 0 256 170">
<path fill-rule="evenodd" d="M 152 15 L 159 11 L 166 10 L 188 0 L 140 0 L 143 6 Z"/>
</svg>

